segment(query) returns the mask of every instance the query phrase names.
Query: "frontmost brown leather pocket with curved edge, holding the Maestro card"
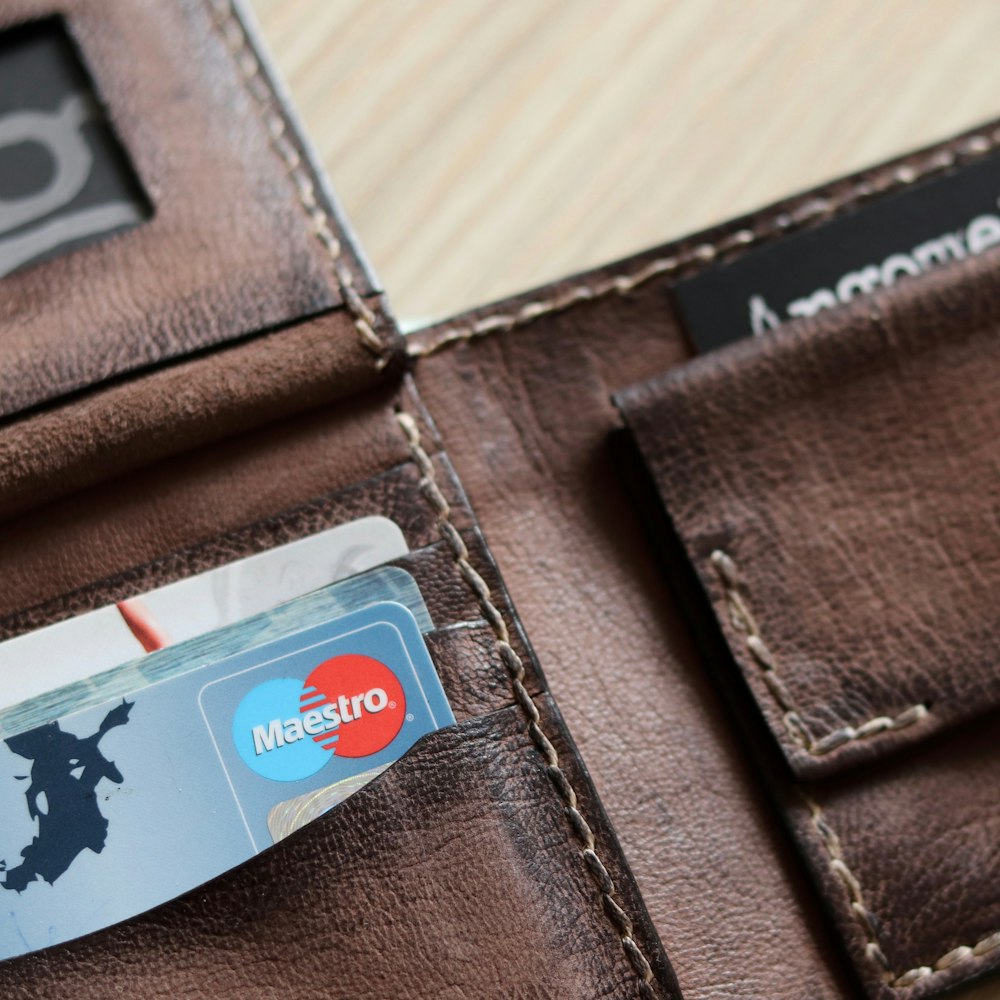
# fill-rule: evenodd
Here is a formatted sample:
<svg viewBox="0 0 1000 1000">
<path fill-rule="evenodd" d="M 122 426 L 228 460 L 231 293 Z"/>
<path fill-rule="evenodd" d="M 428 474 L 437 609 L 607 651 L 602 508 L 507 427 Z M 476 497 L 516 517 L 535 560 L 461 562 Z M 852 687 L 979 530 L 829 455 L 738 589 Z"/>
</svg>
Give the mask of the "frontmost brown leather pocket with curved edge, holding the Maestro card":
<svg viewBox="0 0 1000 1000">
<path fill-rule="evenodd" d="M 564 749 L 551 704 L 538 710 Z M 603 820 L 595 837 L 616 851 Z M 609 864 L 609 878 L 629 882 Z M 511 707 L 424 737 L 337 808 L 213 882 L 0 964 L 0 993 L 44 1000 L 86 982 L 88 996 L 149 1000 L 385 995 L 387 984 L 423 997 L 510 996 L 512 984 L 540 1000 L 634 995 L 635 973 L 593 894 Z M 637 919 L 647 948 L 651 933 Z M 665 962 L 651 976 L 659 995 L 676 996 Z"/>
</svg>

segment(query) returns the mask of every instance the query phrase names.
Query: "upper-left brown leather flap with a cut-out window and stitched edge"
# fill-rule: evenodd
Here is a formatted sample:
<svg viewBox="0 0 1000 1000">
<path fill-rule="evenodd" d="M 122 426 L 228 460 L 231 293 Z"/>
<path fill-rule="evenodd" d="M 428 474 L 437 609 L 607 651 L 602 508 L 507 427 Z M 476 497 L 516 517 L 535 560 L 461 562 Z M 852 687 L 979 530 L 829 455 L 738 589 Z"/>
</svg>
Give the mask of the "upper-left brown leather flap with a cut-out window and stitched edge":
<svg viewBox="0 0 1000 1000">
<path fill-rule="evenodd" d="M 0 42 L 52 13 L 6 4 Z M 0 417 L 372 292 L 228 0 L 66 0 L 51 23 L 151 215 L 0 279 Z"/>
</svg>

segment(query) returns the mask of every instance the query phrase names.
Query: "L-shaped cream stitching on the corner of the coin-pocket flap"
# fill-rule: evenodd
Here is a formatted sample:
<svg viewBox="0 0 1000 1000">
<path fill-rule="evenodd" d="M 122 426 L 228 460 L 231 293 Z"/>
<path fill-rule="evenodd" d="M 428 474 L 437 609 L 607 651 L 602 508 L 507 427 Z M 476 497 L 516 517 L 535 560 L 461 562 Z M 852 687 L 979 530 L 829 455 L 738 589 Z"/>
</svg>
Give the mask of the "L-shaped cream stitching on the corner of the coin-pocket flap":
<svg viewBox="0 0 1000 1000">
<path fill-rule="evenodd" d="M 711 555 L 729 610 L 729 620 L 733 628 L 743 635 L 743 642 L 751 659 L 761 668 L 764 683 L 782 711 L 785 729 L 796 744 L 814 757 L 822 757 L 856 740 L 872 739 L 883 733 L 906 729 L 926 718 L 930 712 L 926 705 L 911 705 L 899 715 L 889 717 L 879 715 L 858 726 L 842 726 L 825 736 L 813 736 L 802 713 L 778 673 L 774 654 L 761 638 L 757 622 L 740 593 L 739 574 L 736 563 L 721 549 Z"/>
</svg>

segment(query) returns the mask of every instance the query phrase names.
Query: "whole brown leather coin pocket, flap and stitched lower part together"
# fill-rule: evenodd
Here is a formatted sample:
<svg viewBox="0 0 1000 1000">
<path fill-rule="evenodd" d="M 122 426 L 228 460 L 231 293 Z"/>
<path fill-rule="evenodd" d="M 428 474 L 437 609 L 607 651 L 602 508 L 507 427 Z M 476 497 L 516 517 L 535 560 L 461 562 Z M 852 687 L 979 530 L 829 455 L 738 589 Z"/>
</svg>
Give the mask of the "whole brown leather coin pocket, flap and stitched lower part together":
<svg viewBox="0 0 1000 1000">
<path fill-rule="evenodd" d="M 620 398 L 886 1000 L 1000 966 L 998 332 L 988 255 Z"/>
</svg>

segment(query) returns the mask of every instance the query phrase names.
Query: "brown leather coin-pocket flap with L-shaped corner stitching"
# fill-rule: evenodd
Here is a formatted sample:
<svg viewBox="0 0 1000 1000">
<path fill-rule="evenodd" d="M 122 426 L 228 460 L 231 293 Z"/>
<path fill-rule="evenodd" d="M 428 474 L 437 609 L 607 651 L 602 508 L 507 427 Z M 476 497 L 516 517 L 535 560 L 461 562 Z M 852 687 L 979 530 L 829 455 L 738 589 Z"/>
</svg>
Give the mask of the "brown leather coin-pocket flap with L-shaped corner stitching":
<svg viewBox="0 0 1000 1000">
<path fill-rule="evenodd" d="M 997 706 L 998 390 L 988 255 L 618 397 L 800 776 Z"/>
</svg>

